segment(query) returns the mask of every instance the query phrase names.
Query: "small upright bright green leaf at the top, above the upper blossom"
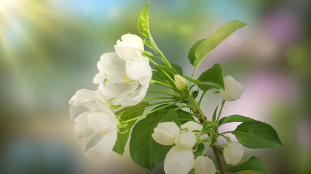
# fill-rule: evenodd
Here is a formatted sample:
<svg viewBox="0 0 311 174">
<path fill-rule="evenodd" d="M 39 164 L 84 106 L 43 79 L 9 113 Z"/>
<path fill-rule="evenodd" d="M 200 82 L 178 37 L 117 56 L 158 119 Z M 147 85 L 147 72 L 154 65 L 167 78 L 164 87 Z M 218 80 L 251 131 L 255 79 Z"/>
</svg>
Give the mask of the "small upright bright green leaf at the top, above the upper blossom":
<svg viewBox="0 0 311 174">
<path fill-rule="evenodd" d="M 138 31 L 144 37 L 149 37 L 149 16 L 148 16 L 148 2 L 144 10 L 140 13 L 138 18 Z"/>
</svg>

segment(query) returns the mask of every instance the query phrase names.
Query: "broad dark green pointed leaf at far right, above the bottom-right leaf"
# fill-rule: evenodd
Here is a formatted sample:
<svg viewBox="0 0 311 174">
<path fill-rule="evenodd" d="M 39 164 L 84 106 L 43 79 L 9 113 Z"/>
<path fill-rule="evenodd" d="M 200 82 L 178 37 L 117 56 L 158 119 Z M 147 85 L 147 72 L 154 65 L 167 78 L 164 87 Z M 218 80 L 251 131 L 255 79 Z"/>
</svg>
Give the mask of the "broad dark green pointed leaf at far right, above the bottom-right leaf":
<svg viewBox="0 0 311 174">
<path fill-rule="evenodd" d="M 240 124 L 232 132 L 243 146 L 251 149 L 281 147 L 282 143 L 275 129 L 260 121 Z"/>
</svg>

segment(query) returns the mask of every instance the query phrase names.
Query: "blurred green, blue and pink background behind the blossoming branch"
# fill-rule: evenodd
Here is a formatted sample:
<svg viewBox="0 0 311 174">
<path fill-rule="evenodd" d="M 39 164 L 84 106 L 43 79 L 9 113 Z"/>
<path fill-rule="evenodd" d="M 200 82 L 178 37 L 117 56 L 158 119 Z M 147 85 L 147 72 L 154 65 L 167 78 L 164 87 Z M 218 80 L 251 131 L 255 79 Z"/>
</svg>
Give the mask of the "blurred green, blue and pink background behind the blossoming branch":
<svg viewBox="0 0 311 174">
<path fill-rule="evenodd" d="M 0 0 L 0 172 L 164 173 L 162 165 L 154 171 L 139 167 L 128 149 L 122 157 L 86 159 L 69 118 L 74 93 L 96 89 L 92 80 L 100 55 L 114 51 L 123 34 L 138 34 L 146 3 Z M 248 149 L 243 158 L 260 157 L 271 173 L 311 173 L 310 5 L 308 0 L 151 0 L 149 6 L 154 40 L 188 76 L 193 43 L 230 20 L 248 24 L 208 55 L 197 76 L 220 63 L 224 76 L 246 86 L 222 115 L 245 115 L 277 130 L 283 148 Z M 202 109 L 210 117 L 220 103 L 210 92 Z"/>
</svg>

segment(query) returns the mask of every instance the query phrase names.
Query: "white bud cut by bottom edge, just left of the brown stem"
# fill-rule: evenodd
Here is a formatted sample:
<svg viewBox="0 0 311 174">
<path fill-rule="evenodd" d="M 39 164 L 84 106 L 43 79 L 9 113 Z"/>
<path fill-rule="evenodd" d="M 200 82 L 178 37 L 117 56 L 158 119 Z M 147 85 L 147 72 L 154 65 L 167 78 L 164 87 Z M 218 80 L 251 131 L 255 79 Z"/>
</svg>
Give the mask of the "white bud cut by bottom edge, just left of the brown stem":
<svg viewBox="0 0 311 174">
<path fill-rule="evenodd" d="M 205 156 L 198 156 L 194 160 L 193 168 L 195 174 L 214 174 L 216 172 L 213 161 Z"/>
</svg>

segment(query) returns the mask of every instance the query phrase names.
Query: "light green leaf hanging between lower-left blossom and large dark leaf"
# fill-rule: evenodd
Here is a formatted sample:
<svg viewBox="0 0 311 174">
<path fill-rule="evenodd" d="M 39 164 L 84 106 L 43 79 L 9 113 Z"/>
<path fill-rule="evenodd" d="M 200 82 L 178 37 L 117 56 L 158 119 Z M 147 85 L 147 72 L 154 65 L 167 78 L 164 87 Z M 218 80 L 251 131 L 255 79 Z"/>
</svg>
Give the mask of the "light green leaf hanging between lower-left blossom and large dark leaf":
<svg viewBox="0 0 311 174">
<path fill-rule="evenodd" d="M 129 106 L 129 107 L 125 107 L 121 110 L 119 110 L 118 112 L 116 112 L 116 114 L 120 114 L 123 112 L 121 119 L 122 120 L 129 120 L 135 117 L 138 117 L 139 115 L 142 115 L 144 113 L 145 108 L 149 106 L 148 103 L 139 103 L 135 106 Z M 126 128 L 120 128 L 120 132 L 124 132 L 127 130 L 127 132 L 125 133 L 120 133 L 118 132 L 118 138 L 115 144 L 115 147 L 113 149 L 113 151 L 117 152 L 118 154 L 122 155 L 124 153 L 124 147 L 126 145 L 127 139 L 129 137 L 130 134 L 130 130 L 131 128 L 134 126 L 135 122 L 129 122 L 127 124 Z"/>
</svg>

